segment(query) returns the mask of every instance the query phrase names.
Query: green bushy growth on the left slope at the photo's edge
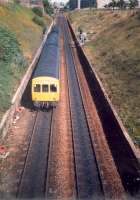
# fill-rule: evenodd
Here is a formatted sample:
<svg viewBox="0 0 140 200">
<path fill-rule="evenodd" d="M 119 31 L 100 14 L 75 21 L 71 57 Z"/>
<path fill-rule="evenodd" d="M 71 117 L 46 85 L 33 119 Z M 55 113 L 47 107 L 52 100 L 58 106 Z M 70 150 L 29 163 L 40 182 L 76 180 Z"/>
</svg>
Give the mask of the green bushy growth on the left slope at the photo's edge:
<svg viewBox="0 0 140 200">
<path fill-rule="evenodd" d="M 0 25 L 0 118 L 11 105 L 11 97 L 27 62 L 16 35 Z"/>
</svg>

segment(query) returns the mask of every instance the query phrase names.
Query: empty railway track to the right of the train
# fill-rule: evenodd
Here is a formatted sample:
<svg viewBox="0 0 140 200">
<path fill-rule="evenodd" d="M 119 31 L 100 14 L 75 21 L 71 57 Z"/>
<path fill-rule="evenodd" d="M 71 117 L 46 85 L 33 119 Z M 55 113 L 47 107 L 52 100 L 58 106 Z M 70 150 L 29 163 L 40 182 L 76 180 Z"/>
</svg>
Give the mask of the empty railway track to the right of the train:
<svg viewBox="0 0 140 200">
<path fill-rule="evenodd" d="M 103 196 L 102 184 L 69 45 L 70 36 L 66 21 L 64 21 L 63 34 L 69 83 L 77 197 L 79 199 L 98 199 Z"/>
</svg>

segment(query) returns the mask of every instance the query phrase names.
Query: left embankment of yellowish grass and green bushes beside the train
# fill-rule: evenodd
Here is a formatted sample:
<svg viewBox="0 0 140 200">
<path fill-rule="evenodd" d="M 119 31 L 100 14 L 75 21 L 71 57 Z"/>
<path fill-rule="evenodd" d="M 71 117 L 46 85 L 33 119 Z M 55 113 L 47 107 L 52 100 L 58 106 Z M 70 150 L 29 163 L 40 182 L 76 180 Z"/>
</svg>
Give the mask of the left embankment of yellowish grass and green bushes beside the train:
<svg viewBox="0 0 140 200">
<path fill-rule="evenodd" d="M 35 13 L 16 4 L 0 5 L 0 119 L 42 40 Z M 49 26 L 51 19 L 44 17 Z"/>
</svg>

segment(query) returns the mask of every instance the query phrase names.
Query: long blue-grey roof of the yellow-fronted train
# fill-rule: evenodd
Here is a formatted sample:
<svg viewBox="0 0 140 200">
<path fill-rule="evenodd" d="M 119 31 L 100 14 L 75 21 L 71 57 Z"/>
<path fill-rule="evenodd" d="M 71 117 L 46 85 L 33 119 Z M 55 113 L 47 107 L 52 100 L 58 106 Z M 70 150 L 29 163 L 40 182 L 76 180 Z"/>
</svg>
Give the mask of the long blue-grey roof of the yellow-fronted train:
<svg viewBox="0 0 140 200">
<path fill-rule="evenodd" d="M 49 76 L 59 79 L 59 36 L 58 26 L 54 26 L 43 47 L 33 78 Z"/>
</svg>

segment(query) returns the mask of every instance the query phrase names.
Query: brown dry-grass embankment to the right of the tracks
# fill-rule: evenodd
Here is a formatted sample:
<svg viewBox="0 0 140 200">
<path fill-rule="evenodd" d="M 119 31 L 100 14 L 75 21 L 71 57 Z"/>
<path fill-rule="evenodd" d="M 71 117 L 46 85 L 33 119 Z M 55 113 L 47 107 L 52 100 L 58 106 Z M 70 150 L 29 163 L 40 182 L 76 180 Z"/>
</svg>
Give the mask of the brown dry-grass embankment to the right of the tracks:
<svg viewBox="0 0 140 200">
<path fill-rule="evenodd" d="M 75 32 L 87 32 L 84 49 L 130 136 L 140 146 L 140 14 L 71 12 Z"/>
</svg>

